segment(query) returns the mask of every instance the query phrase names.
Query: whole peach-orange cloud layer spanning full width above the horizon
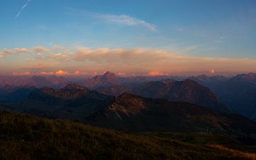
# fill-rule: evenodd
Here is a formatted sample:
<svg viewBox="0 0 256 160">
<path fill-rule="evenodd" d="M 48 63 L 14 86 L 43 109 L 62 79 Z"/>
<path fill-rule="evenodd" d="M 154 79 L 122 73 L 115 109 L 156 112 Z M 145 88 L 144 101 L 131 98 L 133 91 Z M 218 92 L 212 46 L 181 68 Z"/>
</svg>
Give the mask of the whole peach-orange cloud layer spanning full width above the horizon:
<svg viewBox="0 0 256 160">
<path fill-rule="evenodd" d="M 145 48 L 74 47 L 67 49 L 60 46 L 51 48 L 37 46 L 31 49 L 15 48 L 0 51 L 0 60 L 10 56 L 18 58 L 24 73 L 31 72 L 31 68 L 38 68 L 42 73 L 54 74 L 92 74 L 110 70 L 122 75 L 148 74 L 151 76 L 191 72 L 221 74 L 256 71 L 256 59 L 192 57 Z M 5 67 L 11 68 L 13 72 L 17 72 L 20 66 L 15 68 L 12 62 L 5 64 Z M 48 67 L 47 71 L 43 69 L 45 67 Z M 57 73 L 57 71 L 60 72 Z"/>
</svg>

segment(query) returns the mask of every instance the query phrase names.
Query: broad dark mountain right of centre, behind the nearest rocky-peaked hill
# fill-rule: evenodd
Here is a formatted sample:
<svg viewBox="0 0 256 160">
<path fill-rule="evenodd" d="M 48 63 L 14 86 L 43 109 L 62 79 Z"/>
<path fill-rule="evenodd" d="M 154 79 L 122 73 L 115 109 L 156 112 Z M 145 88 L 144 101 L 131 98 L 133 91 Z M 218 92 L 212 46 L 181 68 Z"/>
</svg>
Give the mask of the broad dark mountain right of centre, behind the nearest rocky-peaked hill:
<svg viewBox="0 0 256 160">
<path fill-rule="evenodd" d="M 133 88 L 132 93 L 149 98 L 195 103 L 221 112 L 230 112 L 230 109 L 223 105 L 209 88 L 189 79 L 185 81 L 151 81 Z"/>
</svg>

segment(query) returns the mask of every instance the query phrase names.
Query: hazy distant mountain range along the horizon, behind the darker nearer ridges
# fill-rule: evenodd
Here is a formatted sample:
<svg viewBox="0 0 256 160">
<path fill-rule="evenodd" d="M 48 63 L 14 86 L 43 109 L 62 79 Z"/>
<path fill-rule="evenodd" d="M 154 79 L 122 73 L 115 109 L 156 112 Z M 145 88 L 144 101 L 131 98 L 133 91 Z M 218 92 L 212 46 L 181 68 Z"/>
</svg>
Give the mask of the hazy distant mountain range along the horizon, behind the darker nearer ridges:
<svg viewBox="0 0 256 160">
<path fill-rule="evenodd" d="M 21 101 L 36 88 L 63 88 L 70 83 L 80 84 L 110 96 L 132 93 L 149 98 L 184 101 L 204 105 L 223 112 L 240 113 L 256 118 L 255 74 L 236 76 L 191 76 L 177 81 L 170 76 L 120 77 L 111 72 L 94 76 L 83 82 L 68 81 L 61 76 L 0 76 L 0 101 Z M 181 77 L 176 77 L 181 79 Z M 195 81 L 197 83 L 195 83 Z M 207 88 L 206 88 L 207 87 Z"/>
</svg>

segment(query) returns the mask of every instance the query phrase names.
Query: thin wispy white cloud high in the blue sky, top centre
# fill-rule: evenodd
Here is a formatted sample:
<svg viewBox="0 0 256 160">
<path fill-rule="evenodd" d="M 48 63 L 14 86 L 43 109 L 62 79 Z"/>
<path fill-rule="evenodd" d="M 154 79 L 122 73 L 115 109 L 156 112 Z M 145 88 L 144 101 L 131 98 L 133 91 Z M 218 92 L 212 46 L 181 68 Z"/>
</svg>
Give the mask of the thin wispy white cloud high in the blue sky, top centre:
<svg viewBox="0 0 256 160">
<path fill-rule="evenodd" d="M 143 21 L 143 20 L 140 20 L 137 18 L 133 18 L 131 16 L 127 16 L 124 14 L 122 14 L 122 15 L 98 14 L 96 17 L 102 19 L 103 21 L 107 21 L 110 23 L 119 23 L 122 25 L 129 25 L 129 26 L 142 25 L 151 31 L 156 31 L 156 25 L 147 23 L 146 21 Z"/>
</svg>

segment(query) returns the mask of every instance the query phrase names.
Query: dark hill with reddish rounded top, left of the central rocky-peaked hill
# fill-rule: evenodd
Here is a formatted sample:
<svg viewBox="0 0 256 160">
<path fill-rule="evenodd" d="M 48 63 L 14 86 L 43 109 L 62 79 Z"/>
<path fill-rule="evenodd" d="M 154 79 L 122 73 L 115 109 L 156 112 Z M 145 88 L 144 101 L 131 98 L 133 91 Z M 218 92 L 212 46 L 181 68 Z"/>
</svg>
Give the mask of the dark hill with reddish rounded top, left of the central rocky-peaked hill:
<svg viewBox="0 0 256 160">
<path fill-rule="evenodd" d="M 68 84 L 60 90 L 41 88 L 16 103 L 6 103 L 19 113 L 47 118 L 83 120 L 112 103 L 114 97 L 90 91 L 78 84 Z"/>
</svg>

